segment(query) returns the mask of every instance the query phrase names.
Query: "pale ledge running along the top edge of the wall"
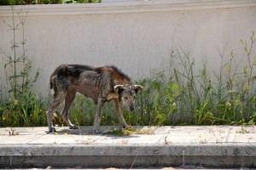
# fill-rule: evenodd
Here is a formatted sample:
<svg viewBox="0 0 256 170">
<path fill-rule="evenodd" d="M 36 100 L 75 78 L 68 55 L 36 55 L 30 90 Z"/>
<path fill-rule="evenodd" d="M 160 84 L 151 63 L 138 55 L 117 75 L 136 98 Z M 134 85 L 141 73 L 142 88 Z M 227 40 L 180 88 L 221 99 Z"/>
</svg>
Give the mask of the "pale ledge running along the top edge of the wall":
<svg viewBox="0 0 256 170">
<path fill-rule="evenodd" d="M 15 15 L 116 14 L 216 8 L 256 7 L 256 0 L 102 0 L 102 3 L 72 3 L 13 6 Z M 12 16 L 11 6 L 0 6 L 0 17 Z"/>
</svg>

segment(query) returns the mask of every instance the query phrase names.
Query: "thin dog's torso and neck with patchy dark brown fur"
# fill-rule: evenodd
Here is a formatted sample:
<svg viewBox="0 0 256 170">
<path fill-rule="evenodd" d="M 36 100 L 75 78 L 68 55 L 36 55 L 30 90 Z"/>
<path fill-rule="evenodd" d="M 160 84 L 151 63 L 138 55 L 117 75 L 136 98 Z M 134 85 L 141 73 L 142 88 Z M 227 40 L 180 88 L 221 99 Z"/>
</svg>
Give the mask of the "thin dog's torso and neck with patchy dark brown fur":
<svg viewBox="0 0 256 170">
<path fill-rule="evenodd" d="M 51 74 L 49 87 L 54 89 L 55 94 L 59 92 L 66 93 L 70 85 L 86 81 L 90 82 L 90 86 L 98 87 L 100 88 L 98 89 L 99 91 L 103 90 L 107 94 L 110 89 L 103 89 L 103 86 L 104 88 L 113 88 L 116 84 L 131 84 L 131 78 L 113 65 L 102 67 L 93 67 L 90 65 L 60 65 Z M 83 85 L 86 87 L 86 84 Z M 93 91 L 93 89 L 91 90 Z M 86 94 L 86 96 L 90 96 L 90 94 Z"/>
</svg>

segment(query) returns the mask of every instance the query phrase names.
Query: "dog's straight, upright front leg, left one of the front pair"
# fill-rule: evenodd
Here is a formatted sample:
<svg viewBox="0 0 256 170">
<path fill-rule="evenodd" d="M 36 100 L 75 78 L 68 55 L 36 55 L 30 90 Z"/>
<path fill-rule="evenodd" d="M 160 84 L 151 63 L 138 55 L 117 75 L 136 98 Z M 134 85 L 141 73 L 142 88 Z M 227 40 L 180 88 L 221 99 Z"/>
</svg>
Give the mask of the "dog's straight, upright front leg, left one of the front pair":
<svg viewBox="0 0 256 170">
<path fill-rule="evenodd" d="M 105 98 L 98 98 L 97 110 L 96 110 L 96 115 L 94 119 L 94 133 L 101 133 L 100 124 L 101 124 L 102 107 L 105 102 L 106 102 Z"/>
</svg>

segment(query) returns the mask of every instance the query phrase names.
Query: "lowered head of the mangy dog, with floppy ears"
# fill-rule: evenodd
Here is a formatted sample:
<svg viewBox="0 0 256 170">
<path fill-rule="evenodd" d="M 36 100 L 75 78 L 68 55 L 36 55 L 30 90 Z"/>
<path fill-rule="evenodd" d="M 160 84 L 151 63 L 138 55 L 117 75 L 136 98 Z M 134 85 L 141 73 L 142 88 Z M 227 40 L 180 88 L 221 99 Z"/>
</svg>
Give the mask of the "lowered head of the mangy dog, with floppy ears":
<svg viewBox="0 0 256 170">
<path fill-rule="evenodd" d="M 123 85 L 116 85 L 113 87 L 114 91 L 119 95 L 119 99 L 125 105 L 128 111 L 134 111 L 135 109 L 135 98 L 137 92 L 143 89 L 140 85 L 129 85 L 127 87 Z"/>
</svg>

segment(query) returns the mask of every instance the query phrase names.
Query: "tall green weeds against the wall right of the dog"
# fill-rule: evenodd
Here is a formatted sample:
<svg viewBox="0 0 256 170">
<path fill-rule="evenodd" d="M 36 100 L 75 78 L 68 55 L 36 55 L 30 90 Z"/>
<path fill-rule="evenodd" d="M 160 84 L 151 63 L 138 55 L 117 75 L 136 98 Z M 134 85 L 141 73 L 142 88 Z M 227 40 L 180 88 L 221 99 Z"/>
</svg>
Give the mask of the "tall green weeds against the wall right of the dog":
<svg viewBox="0 0 256 170">
<path fill-rule="evenodd" d="M 254 32 L 249 41 L 241 41 L 243 67 L 237 64 L 234 50 L 228 57 L 220 52 L 220 70 L 213 75 L 205 62 L 201 70 L 195 71 L 195 60 L 189 52 L 182 48 L 173 50 L 168 77 L 158 72 L 137 82 L 144 89 L 137 97 L 139 110 L 128 120 L 135 120 L 131 122 L 134 125 L 157 126 L 254 125 L 255 42 Z"/>
</svg>

